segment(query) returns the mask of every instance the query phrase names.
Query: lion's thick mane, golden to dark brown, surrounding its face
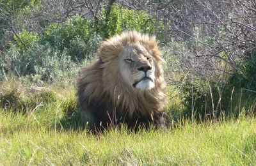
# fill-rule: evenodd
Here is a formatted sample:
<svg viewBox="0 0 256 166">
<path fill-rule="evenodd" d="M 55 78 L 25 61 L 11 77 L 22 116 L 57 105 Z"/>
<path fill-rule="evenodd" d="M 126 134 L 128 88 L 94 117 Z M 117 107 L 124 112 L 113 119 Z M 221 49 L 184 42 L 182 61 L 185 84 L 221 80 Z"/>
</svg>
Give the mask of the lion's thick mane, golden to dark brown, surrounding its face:
<svg viewBox="0 0 256 166">
<path fill-rule="evenodd" d="M 154 57 L 156 86 L 148 91 L 131 90 L 118 71 L 118 58 L 128 45 L 143 45 Z M 79 72 L 77 95 L 83 112 L 90 117 L 93 128 L 108 124 L 127 123 L 128 126 L 150 123 L 165 127 L 168 117 L 164 111 L 166 83 L 163 59 L 154 36 L 136 31 L 125 32 L 103 41 L 99 59 Z"/>
</svg>

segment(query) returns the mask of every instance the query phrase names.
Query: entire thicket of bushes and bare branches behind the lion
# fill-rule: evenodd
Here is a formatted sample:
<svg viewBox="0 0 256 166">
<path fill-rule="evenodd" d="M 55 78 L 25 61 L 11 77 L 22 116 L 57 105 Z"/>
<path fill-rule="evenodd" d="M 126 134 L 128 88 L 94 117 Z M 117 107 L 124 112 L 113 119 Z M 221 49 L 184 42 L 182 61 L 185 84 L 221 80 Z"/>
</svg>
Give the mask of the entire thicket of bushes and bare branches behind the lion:
<svg viewBox="0 0 256 166">
<path fill-rule="evenodd" d="M 166 80 L 179 91 L 169 100 L 178 96 L 180 115 L 254 114 L 255 6 L 239 0 L 1 1 L 0 81 L 74 85 L 102 40 L 135 29 L 157 35 Z"/>
</svg>

